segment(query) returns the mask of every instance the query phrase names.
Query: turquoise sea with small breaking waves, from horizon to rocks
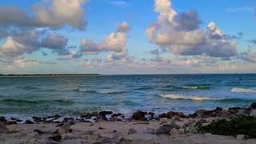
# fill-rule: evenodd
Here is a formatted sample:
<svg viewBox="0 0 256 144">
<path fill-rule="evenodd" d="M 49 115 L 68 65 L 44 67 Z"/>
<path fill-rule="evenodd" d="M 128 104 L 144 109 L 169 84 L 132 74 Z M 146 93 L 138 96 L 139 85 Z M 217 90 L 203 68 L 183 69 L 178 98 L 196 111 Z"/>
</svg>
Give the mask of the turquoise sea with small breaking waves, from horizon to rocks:
<svg viewBox="0 0 256 144">
<path fill-rule="evenodd" d="M 0 78 L 0 115 L 19 117 L 100 110 L 190 114 L 251 102 L 256 102 L 256 74 Z"/>
</svg>

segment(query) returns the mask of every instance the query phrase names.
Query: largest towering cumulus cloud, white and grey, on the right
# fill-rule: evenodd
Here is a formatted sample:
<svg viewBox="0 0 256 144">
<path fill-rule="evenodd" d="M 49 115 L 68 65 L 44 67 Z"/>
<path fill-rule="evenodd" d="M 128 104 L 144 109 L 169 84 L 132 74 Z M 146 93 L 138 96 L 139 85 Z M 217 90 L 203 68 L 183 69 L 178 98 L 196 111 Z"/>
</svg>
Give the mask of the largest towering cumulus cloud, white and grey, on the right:
<svg viewBox="0 0 256 144">
<path fill-rule="evenodd" d="M 176 55 L 202 55 L 233 57 L 237 54 L 236 42 L 210 22 L 206 31 L 199 30 L 202 23 L 196 10 L 178 14 L 170 0 L 155 0 L 158 22 L 146 29 L 150 42 Z M 242 34 L 239 34 L 240 36 Z"/>
</svg>

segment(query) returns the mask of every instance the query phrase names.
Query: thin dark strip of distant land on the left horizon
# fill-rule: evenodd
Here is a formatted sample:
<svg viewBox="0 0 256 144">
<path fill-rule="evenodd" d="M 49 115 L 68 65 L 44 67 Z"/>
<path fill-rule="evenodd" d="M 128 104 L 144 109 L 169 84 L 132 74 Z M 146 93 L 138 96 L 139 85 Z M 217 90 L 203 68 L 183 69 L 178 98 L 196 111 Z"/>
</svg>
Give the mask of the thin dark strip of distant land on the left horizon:
<svg viewBox="0 0 256 144">
<path fill-rule="evenodd" d="M 0 74 L 0 77 L 89 77 L 101 74 Z"/>
</svg>

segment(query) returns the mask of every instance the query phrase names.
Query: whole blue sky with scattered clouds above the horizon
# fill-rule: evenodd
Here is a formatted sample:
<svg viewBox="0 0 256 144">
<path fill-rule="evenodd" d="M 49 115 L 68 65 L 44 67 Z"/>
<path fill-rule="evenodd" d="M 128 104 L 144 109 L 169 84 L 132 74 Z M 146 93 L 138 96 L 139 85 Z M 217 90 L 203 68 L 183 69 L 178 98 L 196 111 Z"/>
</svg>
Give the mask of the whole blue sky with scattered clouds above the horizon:
<svg viewBox="0 0 256 144">
<path fill-rule="evenodd" d="M 256 73 L 254 0 L 0 2 L 0 74 Z"/>
</svg>

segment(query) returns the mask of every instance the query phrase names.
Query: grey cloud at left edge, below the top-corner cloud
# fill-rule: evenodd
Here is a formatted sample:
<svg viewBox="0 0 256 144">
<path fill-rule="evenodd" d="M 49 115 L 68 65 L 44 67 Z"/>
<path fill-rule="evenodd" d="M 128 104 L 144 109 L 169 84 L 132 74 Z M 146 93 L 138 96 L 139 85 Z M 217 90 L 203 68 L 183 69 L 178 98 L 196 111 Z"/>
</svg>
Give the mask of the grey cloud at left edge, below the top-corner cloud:
<svg viewBox="0 0 256 144">
<path fill-rule="evenodd" d="M 68 39 L 57 34 L 46 34 L 40 30 L 12 31 L 0 46 L 0 54 L 5 57 L 18 57 L 31 54 L 42 48 L 52 50 L 58 55 L 70 54 L 67 47 Z M 46 55 L 45 52 L 42 53 Z"/>
</svg>

